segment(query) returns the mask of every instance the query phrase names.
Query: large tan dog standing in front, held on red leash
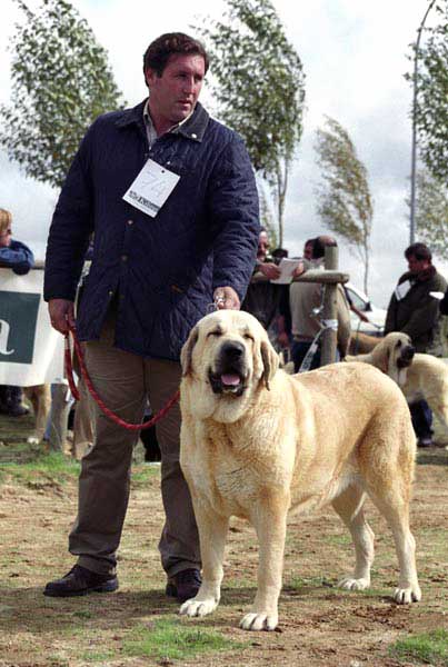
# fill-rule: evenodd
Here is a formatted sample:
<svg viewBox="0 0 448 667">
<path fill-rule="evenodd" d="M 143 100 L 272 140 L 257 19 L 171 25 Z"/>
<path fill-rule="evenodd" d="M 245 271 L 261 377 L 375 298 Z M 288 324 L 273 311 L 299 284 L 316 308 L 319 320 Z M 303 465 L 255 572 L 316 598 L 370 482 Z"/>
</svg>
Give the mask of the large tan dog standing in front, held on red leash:
<svg viewBox="0 0 448 667">
<path fill-rule="evenodd" d="M 232 515 L 251 521 L 260 549 L 258 591 L 242 628 L 277 626 L 291 507 L 332 504 L 356 549 L 355 573 L 340 585 L 367 588 L 374 534 L 362 511 L 366 494 L 394 532 L 400 566 L 396 601 L 420 599 L 408 518 L 416 444 L 405 398 L 390 378 L 359 364 L 289 376 L 278 369 L 261 325 L 233 310 L 200 320 L 181 362 L 180 462 L 203 565 L 198 595 L 181 614 L 205 616 L 218 606 Z"/>
</svg>

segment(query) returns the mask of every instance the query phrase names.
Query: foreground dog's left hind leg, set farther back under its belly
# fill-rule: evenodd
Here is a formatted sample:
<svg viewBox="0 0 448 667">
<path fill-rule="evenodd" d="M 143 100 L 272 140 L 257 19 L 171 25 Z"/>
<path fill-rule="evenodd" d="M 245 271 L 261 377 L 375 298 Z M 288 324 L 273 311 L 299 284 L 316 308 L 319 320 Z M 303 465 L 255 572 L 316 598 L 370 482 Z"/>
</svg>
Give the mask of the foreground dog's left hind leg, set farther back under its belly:
<svg viewBox="0 0 448 667">
<path fill-rule="evenodd" d="M 374 563 L 374 531 L 366 521 L 362 505 L 366 494 L 362 489 L 350 486 L 335 498 L 332 506 L 350 530 L 354 540 L 356 565 L 351 577 L 344 577 L 338 584 L 349 590 L 364 590 L 370 586 L 370 567 Z"/>
</svg>

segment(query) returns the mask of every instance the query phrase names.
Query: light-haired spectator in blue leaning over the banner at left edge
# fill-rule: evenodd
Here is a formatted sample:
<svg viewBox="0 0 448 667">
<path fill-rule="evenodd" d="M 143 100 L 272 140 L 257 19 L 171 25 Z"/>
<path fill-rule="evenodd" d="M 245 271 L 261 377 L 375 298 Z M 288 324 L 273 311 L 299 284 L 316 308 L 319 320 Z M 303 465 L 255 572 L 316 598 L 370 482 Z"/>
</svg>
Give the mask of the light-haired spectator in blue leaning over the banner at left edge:
<svg viewBox="0 0 448 667">
<path fill-rule="evenodd" d="M 28 246 L 12 239 L 12 215 L 0 208 L 0 267 L 24 276 L 33 265 L 34 257 Z M 0 385 L 0 412 L 10 417 L 28 415 L 21 387 Z"/>
</svg>

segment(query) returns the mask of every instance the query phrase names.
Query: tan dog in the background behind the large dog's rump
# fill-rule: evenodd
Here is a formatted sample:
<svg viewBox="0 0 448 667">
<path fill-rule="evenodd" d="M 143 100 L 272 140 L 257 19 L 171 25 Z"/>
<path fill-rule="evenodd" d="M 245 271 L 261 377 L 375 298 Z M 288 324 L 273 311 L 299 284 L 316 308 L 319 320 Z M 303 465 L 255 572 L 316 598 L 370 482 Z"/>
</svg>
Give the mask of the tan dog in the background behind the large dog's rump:
<svg viewBox="0 0 448 667">
<path fill-rule="evenodd" d="M 371 364 L 386 372 L 409 404 L 425 399 L 448 429 L 448 366 L 431 355 L 415 354 L 407 334 L 388 334 L 368 355 L 346 360 Z"/>
</svg>

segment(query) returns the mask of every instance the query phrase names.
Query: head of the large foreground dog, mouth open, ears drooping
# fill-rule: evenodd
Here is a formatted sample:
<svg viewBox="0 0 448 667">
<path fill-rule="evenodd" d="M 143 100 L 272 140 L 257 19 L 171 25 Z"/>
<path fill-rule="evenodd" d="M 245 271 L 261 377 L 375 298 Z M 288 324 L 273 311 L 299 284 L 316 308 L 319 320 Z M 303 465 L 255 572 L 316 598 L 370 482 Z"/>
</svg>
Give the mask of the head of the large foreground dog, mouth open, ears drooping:
<svg viewBox="0 0 448 667">
<path fill-rule="evenodd" d="M 180 360 L 189 410 L 226 422 L 239 419 L 256 391 L 269 389 L 278 368 L 265 329 L 240 310 L 218 310 L 202 318 L 191 330 Z"/>
</svg>

